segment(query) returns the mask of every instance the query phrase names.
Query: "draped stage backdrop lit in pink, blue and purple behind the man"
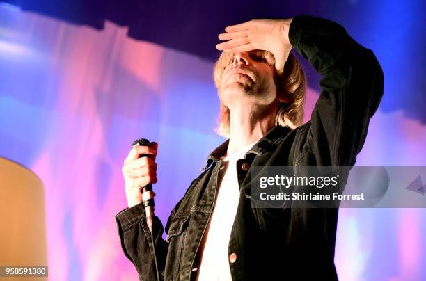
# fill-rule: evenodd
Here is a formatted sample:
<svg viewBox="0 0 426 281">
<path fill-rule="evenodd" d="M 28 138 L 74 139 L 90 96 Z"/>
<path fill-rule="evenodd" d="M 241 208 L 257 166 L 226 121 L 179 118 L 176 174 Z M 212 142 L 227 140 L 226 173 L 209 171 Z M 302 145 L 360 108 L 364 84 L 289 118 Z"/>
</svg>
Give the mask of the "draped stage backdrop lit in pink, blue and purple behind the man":
<svg viewBox="0 0 426 281">
<path fill-rule="evenodd" d="M 164 223 L 224 140 L 213 131 L 219 111 L 213 62 L 126 33 L 110 23 L 95 31 L 0 6 L 0 156 L 29 168 L 45 186 L 40 227 L 49 280 L 138 280 L 114 218 L 127 206 L 121 167 L 133 140 L 159 143 L 154 188 Z M 374 49 L 386 78 L 407 63 L 394 60 L 379 40 L 374 47 L 355 34 Z M 409 92 L 391 91 L 385 101 L 409 99 Z M 305 121 L 317 96 L 308 90 Z M 425 125 L 379 109 L 356 165 L 425 165 L 425 143 Z M 340 279 L 425 280 L 425 214 L 341 209 Z"/>
</svg>

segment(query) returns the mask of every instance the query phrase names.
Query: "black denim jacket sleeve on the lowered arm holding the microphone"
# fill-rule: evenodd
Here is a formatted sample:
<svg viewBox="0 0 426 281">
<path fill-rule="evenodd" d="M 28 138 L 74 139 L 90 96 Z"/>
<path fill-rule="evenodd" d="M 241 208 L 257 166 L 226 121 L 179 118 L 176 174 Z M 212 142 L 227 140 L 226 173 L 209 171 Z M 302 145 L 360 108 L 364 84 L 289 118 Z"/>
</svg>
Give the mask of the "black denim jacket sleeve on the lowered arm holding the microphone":
<svg viewBox="0 0 426 281">
<path fill-rule="evenodd" d="M 174 211 L 168 218 L 166 232 L 173 219 Z M 125 256 L 134 264 L 139 274 L 139 280 L 157 280 L 154 255 L 152 254 L 152 240 L 146 224 L 145 208 L 143 203 L 126 208 L 116 215 L 118 234 Z M 160 278 L 164 278 L 164 266 L 168 252 L 168 243 L 162 239 L 163 225 L 155 216 L 152 226 L 155 240 L 155 252 L 159 266 Z"/>
</svg>

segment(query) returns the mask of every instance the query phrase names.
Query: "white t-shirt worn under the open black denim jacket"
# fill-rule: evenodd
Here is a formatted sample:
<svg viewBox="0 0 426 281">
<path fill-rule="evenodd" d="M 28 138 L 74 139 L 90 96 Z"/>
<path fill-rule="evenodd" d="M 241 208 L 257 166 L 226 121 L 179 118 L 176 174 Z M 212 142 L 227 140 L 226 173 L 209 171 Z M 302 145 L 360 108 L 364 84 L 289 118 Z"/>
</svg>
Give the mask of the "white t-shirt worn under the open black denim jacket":
<svg viewBox="0 0 426 281">
<path fill-rule="evenodd" d="M 216 202 L 207 225 L 205 246 L 198 267 L 199 281 L 232 280 L 228 259 L 228 243 L 232 225 L 239 202 L 239 186 L 237 178 L 237 160 L 244 159 L 244 154 L 257 141 L 243 147 L 241 150 L 222 157 L 219 170 Z"/>
</svg>

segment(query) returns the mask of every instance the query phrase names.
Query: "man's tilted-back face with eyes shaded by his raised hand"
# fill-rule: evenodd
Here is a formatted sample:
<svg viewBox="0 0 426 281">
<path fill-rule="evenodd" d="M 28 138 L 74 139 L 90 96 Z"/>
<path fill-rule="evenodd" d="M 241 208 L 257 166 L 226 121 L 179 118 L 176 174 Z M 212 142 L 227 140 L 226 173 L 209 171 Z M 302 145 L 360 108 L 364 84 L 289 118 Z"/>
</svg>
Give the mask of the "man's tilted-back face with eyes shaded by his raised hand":
<svg viewBox="0 0 426 281">
<path fill-rule="evenodd" d="M 276 100 L 274 65 L 261 56 L 262 51 L 242 51 L 232 54 L 223 70 L 221 100 L 232 109 L 235 102 L 271 104 Z"/>
</svg>

